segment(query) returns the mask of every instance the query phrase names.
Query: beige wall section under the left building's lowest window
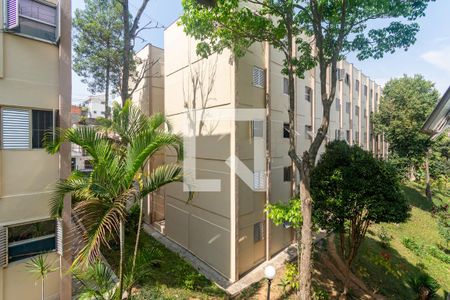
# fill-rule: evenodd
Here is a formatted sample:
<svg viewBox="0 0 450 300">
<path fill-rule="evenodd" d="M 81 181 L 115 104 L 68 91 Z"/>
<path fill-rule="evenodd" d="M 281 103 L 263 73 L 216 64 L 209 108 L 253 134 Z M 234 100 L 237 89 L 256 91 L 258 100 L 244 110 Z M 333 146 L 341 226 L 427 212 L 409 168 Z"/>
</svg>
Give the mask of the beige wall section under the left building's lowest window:
<svg viewBox="0 0 450 300">
<path fill-rule="evenodd" d="M 55 253 L 49 253 L 48 262 L 54 262 L 53 266 L 59 266 L 58 257 Z M 22 260 L 9 264 L 7 268 L 0 269 L 0 279 L 3 279 L 3 289 L 0 293 L 3 300 L 40 300 L 41 284 L 36 280 L 34 274 L 27 271 L 26 263 L 28 260 Z M 2 278 L 3 277 L 3 278 Z M 1 284 L 1 283 L 0 283 Z M 45 299 L 58 299 L 59 293 L 59 269 L 52 272 L 45 279 Z M 0 298 L 1 296 L 0 295 Z"/>
</svg>

